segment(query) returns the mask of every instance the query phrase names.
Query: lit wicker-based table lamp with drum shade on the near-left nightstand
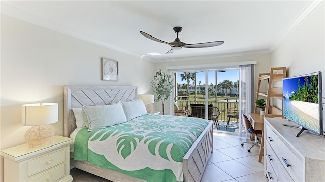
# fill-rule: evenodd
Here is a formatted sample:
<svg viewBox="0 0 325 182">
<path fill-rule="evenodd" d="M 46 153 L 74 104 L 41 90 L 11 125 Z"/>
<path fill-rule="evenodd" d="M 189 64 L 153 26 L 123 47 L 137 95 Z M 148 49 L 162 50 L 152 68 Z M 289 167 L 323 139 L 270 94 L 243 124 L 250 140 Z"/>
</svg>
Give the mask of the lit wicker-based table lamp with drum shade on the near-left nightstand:
<svg viewBox="0 0 325 182">
<path fill-rule="evenodd" d="M 21 124 L 32 126 L 25 133 L 25 141 L 31 147 L 51 142 L 55 132 L 49 124 L 57 121 L 57 103 L 35 103 L 21 106 Z"/>
</svg>

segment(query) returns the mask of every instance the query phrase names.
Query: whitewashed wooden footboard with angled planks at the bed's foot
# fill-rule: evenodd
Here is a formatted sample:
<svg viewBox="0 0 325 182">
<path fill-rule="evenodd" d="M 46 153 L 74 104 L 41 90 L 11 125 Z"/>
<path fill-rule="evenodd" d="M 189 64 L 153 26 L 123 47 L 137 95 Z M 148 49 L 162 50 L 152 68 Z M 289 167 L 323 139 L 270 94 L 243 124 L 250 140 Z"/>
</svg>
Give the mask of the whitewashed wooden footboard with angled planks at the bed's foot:
<svg viewBox="0 0 325 182">
<path fill-rule="evenodd" d="M 210 122 L 183 158 L 184 181 L 200 182 L 213 153 L 213 122 Z"/>
</svg>

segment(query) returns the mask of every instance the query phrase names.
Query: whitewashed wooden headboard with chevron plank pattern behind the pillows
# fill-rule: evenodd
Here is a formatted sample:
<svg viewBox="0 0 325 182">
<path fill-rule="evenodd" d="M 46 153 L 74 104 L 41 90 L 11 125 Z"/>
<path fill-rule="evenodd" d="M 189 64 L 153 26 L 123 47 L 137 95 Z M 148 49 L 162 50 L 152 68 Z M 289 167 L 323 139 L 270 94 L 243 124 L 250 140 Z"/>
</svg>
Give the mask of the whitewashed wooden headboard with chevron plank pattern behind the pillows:
<svg viewBox="0 0 325 182">
<path fill-rule="evenodd" d="M 72 108 L 84 105 L 107 105 L 138 98 L 137 86 L 66 85 L 64 88 L 64 136 L 76 128 Z"/>
</svg>

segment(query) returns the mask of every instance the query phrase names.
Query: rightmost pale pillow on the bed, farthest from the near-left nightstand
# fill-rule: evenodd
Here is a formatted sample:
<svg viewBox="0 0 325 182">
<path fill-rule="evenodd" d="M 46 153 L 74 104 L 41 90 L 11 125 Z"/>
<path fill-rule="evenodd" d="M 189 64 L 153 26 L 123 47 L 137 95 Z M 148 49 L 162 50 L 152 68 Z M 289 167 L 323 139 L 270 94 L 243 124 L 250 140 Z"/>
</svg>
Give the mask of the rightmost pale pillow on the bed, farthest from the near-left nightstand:
<svg viewBox="0 0 325 182">
<path fill-rule="evenodd" d="M 148 114 L 146 106 L 144 105 L 141 98 L 129 102 L 120 101 L 120 103 L 123 105 L 127 121 Z"/>
</svg>

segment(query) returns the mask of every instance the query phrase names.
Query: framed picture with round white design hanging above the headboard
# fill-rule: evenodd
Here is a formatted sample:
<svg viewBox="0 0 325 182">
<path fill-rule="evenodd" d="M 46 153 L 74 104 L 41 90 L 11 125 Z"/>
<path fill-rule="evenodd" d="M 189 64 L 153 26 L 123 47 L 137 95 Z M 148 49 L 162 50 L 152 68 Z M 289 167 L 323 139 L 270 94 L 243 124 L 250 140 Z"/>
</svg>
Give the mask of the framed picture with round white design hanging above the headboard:
<svg viewBox="0 0 325 182">
<path fill-rule="evenodd" d="M 102 57 L 102 80 L 118 81 L 118 62 Z"/>
</svg>

